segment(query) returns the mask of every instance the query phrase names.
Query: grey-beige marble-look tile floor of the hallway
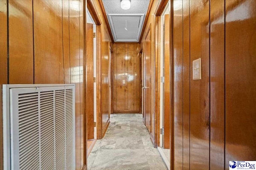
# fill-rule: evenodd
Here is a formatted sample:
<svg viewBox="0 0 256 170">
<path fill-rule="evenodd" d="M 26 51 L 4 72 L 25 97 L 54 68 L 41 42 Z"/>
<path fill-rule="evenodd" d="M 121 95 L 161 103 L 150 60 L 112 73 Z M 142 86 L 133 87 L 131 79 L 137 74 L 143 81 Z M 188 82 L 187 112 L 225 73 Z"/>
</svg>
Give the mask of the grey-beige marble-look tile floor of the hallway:
<svg viewBox="0 0 256 170">
<path fill-rule="evenodd" d="M 88 156 L 88 170 L 167 170 L 142 123 L 142 114 L 111 114 L 103 139 Z"/>
</svg>

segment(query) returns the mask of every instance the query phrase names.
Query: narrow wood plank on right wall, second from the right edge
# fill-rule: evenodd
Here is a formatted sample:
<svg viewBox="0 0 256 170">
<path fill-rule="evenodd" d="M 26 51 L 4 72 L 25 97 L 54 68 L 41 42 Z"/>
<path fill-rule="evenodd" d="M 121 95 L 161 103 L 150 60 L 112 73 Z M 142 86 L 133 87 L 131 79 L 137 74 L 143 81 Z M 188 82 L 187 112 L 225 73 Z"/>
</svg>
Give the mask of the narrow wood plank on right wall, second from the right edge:
<svg viewBox="0 0 256 170">
<path fill-rule="evenodd" d="M 210 169 L 224 169 L 224 1 L 210 1 Z"/>
</svg>

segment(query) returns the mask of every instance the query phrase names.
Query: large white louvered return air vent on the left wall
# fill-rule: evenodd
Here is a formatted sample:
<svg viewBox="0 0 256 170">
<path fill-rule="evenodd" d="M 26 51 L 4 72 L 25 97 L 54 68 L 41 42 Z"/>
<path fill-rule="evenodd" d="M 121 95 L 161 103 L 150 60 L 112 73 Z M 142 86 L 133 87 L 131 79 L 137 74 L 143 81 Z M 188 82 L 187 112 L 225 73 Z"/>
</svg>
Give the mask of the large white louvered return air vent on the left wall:
<svg viewBox="0 0 256 170">
<path fill-rule="evenodd" d="M 75 169 L 74 84 L 3 85 L 4 170 Z"/>
</svg>

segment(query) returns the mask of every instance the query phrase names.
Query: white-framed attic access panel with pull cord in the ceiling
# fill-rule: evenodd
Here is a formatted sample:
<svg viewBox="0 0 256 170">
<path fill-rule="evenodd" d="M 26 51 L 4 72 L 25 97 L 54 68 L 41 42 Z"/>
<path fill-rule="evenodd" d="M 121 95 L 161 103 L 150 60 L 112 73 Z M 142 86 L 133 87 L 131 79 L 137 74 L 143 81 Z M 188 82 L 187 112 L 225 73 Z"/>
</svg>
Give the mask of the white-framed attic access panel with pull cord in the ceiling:
<svg viewBox="0 0 256 170">
<path fill-rule="evenodd" d="M 115 42 L 138 42 L 144 14 L 108 14 Z"/>
</svg>

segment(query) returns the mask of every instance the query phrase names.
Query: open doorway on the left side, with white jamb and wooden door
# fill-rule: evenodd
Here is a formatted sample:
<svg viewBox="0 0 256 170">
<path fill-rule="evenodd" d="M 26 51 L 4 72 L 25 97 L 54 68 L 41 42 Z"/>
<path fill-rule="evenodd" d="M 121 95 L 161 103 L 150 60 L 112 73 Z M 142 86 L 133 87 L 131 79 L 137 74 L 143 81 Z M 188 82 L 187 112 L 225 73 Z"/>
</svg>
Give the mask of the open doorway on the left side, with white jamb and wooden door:
<svg viewBox="0 0 256 170">
<path fill-rule="evenodd" d="M 87 9 L 86 23 L 86 114 L 87 114 L 87 156 L 96 139 L 96 24 Z"/>
</svg>

